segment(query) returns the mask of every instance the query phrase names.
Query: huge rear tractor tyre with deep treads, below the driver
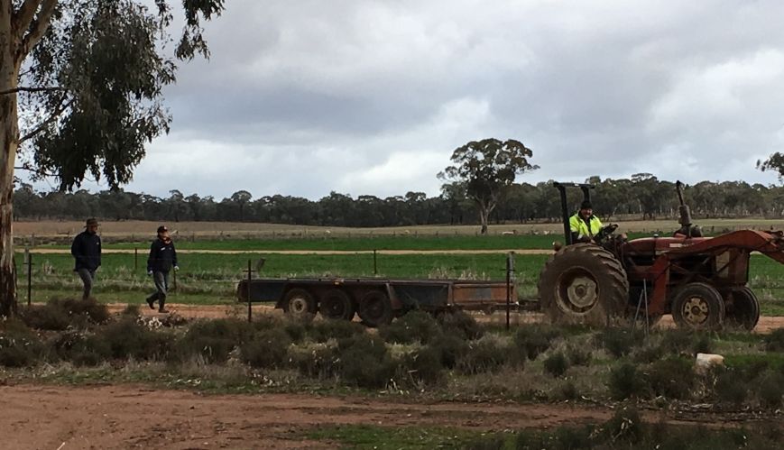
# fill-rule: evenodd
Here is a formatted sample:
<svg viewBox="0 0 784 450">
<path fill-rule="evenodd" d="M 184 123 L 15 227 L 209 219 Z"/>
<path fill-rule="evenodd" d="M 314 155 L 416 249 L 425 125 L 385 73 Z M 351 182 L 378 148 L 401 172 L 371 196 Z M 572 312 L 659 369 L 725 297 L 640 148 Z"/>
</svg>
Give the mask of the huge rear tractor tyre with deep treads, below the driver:
<svg viewBox="0 0 784 450">
<path fill-rule="evenodd" d="M 553 323 L 610 325 L 626 310 L 629 280 L 613 253 L 591 243 L 576 243 L 545 264 L 539 296 Z"/>
</svg>

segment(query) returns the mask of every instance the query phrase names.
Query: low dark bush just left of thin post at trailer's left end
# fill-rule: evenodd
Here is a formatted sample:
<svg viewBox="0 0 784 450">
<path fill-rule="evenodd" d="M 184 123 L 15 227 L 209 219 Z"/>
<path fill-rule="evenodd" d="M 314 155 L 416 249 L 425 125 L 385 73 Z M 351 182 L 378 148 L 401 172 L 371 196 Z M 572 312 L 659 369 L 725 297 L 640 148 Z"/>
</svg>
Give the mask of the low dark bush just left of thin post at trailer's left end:
<svg viewBox="0 0 784 450">
<path fill-rule="evenodd" d="M 235 346 L 254 338 L 254 326 L 226 318 L 195 322 L 178 343 L 178 357 L 201 356 L 207 363 L 224 363 Z"/>
</svg>

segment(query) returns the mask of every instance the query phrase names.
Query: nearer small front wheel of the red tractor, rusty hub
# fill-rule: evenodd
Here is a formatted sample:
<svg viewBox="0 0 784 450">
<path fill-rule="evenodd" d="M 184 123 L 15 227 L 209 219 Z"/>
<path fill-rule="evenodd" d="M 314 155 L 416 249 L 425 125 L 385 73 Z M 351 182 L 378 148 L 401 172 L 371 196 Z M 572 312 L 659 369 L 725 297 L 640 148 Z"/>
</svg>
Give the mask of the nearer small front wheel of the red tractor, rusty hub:
<svg viewBox="0 0 784 450">
<path fill-rule="evenodd" d="M 724 298 L 706 283 L 688 283 L 672 298 L 672 319 L 681 328 L 716 330 L 724 324 Z"/>
</svg>

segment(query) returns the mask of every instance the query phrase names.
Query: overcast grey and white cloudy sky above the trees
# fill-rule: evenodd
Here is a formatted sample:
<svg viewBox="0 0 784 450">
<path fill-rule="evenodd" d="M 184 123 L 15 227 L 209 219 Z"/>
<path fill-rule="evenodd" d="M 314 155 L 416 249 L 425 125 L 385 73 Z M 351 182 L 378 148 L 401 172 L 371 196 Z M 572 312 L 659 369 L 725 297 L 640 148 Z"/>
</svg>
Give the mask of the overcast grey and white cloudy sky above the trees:
<svg viewBox="0 0 784 450">
<path fill-rule="evenodd" d="M 784 152 L 784 2 L 645 3 L 228 1 L 125 188 L 435 196 L 486 137 L 533 150 L 530 183 L 777 183 L 755 163 Z"/>
</svg>

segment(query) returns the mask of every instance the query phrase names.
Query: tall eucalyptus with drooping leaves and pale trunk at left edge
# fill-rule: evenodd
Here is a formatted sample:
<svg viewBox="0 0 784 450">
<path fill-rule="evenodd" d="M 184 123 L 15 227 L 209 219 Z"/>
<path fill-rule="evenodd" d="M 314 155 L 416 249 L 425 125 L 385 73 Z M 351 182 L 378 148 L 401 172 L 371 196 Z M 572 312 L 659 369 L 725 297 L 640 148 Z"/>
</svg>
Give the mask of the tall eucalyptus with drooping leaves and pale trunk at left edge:
<svg viewBox="0 0 784 450">
<path fill-rule="evenodd" d="M 177 60 L 208 57 L 202 23 L 225 0 L 0 0 L 0 314 L 14 312 L 14 170 L 128 182 L 144 145 L 169 131 L 162 88 Z M 148 7 L 150 5 L 150 7 Z M 179 7 L 178 7 L 179 8 Z"/>
</svg>

